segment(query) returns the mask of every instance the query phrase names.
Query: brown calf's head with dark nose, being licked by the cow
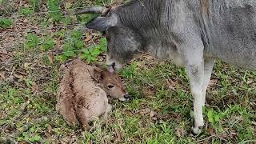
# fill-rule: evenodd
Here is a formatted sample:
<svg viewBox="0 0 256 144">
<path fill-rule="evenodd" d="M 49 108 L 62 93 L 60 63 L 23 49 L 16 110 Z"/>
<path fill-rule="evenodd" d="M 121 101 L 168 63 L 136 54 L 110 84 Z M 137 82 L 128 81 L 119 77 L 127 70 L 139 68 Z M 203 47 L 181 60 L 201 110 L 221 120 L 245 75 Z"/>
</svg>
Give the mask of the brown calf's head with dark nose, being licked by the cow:
<svg viewBox="0 0 256 144">
<path fill-rule="evenodd" d="M 112 98 L 127 102 L 130 95 L 126 93 L 122 86 L 122 80 L 118 74 L 110 73 L 107 70 L 94 69 L 94 77 L 98 79 L 103 90 Z"/>
</svg>

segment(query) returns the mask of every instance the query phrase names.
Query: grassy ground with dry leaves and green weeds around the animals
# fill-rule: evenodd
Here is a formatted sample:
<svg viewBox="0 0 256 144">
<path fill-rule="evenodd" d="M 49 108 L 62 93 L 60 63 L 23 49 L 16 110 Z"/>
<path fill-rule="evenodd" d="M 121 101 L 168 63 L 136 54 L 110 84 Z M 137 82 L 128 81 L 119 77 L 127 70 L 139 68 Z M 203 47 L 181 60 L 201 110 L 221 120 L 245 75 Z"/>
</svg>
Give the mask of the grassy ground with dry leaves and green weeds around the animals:
<svg viewBox="0 0 256 144">
<path fill-rule="evenodd" d="M 130 102 L 110 100 L 106 122 L 70 128 L 55 111 L 62 69 L 72 58 L 104 64 L 106 39 L 86 30 L 93 14 L 74 11 L 106 0 L 0 0 L 0 143 L 246 143 L 256 140 L 256 72 L 216 62 L 205 128 L 194 136 L 185 70 L 150 55 L 119 74 Z"/>
</svg>

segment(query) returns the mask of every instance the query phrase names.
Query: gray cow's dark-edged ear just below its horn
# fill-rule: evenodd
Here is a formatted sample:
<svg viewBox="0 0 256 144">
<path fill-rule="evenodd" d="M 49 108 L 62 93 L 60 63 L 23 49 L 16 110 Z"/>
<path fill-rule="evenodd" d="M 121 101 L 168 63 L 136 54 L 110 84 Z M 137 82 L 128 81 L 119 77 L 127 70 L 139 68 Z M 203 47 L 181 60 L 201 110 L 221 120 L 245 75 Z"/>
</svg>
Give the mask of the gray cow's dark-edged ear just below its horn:
<svg viewBox="0 0 256 144">
<path fill-rule="evenodd" d="M 105 31 L 109 27 L 116 26 L 118 23 L 117 18 L 113 17 L 96 17 L 90 20 L 86 24 L 86 27 L 89 29 L 94 29 L 98 31 Z"/>
</svg>

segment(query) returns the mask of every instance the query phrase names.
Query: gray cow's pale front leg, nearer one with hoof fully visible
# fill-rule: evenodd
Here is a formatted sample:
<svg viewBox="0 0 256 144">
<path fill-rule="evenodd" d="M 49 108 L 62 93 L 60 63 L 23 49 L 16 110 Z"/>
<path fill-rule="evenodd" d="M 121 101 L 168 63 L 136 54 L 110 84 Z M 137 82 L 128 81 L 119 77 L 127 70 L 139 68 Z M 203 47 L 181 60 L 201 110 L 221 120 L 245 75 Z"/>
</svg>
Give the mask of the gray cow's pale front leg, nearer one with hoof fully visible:
<svg viewBox="0 0 256 144">
<path fill-rule="evenodd" d="M 189 51 L 186 51 L 189 50 Z M 204 122 L 202 106 L 204 102 L 204 59 L 202 46 L 186 49 L 184 53 L 186 74 L 190 80 L 190 90 L 194 98 L 194 126 L 193 133 L 198 134 Z"/>
</svg>

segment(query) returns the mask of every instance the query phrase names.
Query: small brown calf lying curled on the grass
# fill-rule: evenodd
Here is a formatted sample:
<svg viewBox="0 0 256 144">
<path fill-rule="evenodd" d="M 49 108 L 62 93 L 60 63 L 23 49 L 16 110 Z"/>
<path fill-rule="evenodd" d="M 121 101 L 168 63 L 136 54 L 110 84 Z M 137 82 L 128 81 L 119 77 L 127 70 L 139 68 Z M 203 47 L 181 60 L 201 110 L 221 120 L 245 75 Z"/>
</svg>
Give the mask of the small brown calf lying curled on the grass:
<svg viewBox="0 0 256 144">
<path fill-rule="evenodd" d="M 56 110 L 69 126 L 79 122 L 82 130 L 90 130 L 88 122 L 111 110 L 106 95 L 128 101 L 118 74 L 74 60 L 60 83 Z"/>
</svg>

